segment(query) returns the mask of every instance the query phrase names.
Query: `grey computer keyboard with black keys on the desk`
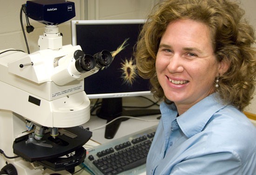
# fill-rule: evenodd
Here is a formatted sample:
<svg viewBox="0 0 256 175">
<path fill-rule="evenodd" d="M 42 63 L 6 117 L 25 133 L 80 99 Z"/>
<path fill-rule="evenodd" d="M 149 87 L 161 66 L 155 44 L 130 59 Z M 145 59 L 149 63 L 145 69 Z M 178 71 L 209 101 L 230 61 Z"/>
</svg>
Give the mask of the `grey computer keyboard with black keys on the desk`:
<svg viewBox="0 0 256 175">
<path fill-rule="evenodd" d="M 138 175 L 145 172 L 156 125 L 87 150 L 84 164 L 94 175 Z"/>
</svg>

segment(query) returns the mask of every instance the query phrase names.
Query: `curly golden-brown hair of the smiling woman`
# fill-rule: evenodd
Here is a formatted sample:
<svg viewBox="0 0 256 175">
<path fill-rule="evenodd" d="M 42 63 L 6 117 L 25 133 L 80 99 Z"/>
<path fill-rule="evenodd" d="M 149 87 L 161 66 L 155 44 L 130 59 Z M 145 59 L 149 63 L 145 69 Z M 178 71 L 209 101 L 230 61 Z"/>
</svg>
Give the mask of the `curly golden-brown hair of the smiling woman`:
<svg viewBox="0 0 256 175">
<path fill-rule="evenodd" d="M 209 27 L 216 58 L 229 63 L 216 92 L 225 104 L 240 110 L 249 105 L 256 85 L 256 42 L 254 29 L 243 15 L 239 4 L 229 0 L 160 1 L 146 19 L 135 48 L 138 72 L 150 80 L 155 97 L 168 101 L 155 72 L 161 37 L 169 22 L 192 19 Z"/>
</svg>

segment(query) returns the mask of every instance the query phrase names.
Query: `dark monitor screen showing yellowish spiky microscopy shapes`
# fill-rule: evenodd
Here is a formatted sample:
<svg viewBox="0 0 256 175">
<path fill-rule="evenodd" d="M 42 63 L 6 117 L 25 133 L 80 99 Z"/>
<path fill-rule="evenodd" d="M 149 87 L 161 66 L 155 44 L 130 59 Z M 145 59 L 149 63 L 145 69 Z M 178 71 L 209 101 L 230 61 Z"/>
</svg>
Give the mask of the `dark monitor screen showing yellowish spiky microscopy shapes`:
<svg viewBox="0 0 256 175">
<path fill-rule="evenodd" d="M 114 57 L 107 68 L 85 78 L 86 94 L 149 91 L 148 80 L 136 70 L 134 46 L 143 24 L 77 25 L 77 44 L 86 54 L 108 50 Z"/>
</svg>

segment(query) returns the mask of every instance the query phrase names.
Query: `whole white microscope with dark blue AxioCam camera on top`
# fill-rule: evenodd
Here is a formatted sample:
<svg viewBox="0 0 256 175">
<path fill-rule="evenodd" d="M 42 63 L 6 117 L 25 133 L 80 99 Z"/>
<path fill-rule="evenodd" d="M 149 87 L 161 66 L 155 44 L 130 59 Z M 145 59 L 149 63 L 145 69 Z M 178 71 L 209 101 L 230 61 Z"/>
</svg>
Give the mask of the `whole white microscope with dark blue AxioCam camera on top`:
<svg viewBox="0 0 256 175">
<path fill-rule="evenodd" d="M 74 2 L 28 0 L 27 16 L 45 24 L 40 50 L 0 50 L 0 170 L 9 175 L 70 175 L 85 157 L 92 132 L 84 78 L 113 57 L 62 46 L 58 24 L 75 16 Z M 90 84 L 88 86 L 93 86 Z M 12 165 L 8 166 L 7 165 Z"/>
</svg>

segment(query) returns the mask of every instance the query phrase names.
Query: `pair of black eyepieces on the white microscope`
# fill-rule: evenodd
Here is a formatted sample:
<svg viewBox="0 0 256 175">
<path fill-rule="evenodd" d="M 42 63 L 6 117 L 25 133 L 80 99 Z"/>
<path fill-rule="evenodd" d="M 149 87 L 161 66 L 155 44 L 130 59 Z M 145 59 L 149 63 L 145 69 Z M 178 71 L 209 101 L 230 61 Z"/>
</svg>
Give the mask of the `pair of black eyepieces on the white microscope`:
<svg viewBox="0 0 256 175">
<path fill-rule="evenodd" d="M 85 73 L 95 67 L 100 69 L 108 66 L 113 61 L 113 57 L 108 50 L 102 50 L 94 56 L 85 54 L 82 50 L 74 52 L 75 68 L 80 73 Z"/>
</svg>

